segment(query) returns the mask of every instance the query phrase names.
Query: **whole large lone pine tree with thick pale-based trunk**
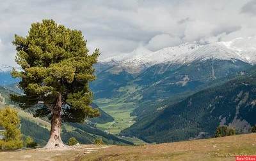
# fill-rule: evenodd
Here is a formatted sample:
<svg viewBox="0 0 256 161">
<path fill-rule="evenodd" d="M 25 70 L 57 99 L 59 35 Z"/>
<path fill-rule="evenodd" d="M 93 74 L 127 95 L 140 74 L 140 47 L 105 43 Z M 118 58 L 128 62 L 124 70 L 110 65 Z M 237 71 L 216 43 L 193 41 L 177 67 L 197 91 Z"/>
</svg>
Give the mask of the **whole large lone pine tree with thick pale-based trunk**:
<svg viewBox="0 0 256 161">
<path fill-rule="evenodd" d="M 51 136 L 45 148 L 65 146 L 61 141 L 61 122 L 84 122 L 99 116 L 90 104 L 93 93 L 89 81 L 96 79 L 93 64 L 100 55 L 91 55 L 81 31 L 65 28 L 54 20 L 31 25 L 28 36 L 15 34 L 15 61 L 22 71 L 13 69 L 20 78 L 24 95 L 11 95 L 20 108 L 35 108 L 34 116 L 51 120 Z"/>
</svg>

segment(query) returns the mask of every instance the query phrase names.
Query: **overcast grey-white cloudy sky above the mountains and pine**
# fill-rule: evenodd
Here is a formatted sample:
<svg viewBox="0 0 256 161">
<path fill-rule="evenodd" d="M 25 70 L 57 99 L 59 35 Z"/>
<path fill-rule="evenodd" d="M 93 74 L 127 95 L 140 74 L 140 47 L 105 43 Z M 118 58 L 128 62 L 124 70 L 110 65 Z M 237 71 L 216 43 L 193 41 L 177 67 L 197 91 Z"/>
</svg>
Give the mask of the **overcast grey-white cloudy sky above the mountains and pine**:
<svg viewBox="0 0 256 161">
<path fill-rule="evenodd" d="M 88 48 L 104 59 L 143 45 L 212 43 L 256 35 L 256 0 L 0 0 L 0 64 L 15 66 L 14 34 L 53 19 L 83 31 Z"/>
</svg>

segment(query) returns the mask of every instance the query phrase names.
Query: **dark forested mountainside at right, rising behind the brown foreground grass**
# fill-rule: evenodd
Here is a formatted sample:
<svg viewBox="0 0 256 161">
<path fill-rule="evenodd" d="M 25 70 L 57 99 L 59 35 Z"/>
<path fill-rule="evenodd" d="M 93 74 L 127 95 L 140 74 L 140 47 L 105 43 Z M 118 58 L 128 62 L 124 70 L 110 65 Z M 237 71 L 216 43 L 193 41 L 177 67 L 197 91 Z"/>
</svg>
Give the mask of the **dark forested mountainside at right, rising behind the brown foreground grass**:
<svg viewBox="0 0 256 161">
<path fill-rule="evenodd" d="M 164 143 L 211 137 L 220 124 L 236 127 L 238 133 L 249 132 L 256 123 L 255 69 L 254 66 L 246 76 L 167 105 L 156 116 L 135 123 L 122 134 L 138 136 L 150 143 Z"/>
</svg>

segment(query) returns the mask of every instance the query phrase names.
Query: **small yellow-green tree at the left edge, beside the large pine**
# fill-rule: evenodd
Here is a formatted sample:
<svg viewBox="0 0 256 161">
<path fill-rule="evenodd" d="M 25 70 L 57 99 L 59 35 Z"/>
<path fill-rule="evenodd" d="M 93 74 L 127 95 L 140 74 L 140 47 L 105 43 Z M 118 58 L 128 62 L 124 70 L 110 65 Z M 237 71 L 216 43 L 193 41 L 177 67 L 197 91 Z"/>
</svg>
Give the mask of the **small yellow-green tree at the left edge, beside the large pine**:
<svg viewBox="0 0 256 161">
<path fill-rule="evenodd" d="M 18 111 L 10 107 L 0 110 L 0 125 L 3 127 L 4 139 L 0 140 L 2 150 L 14 150 L 22 148 L 23 141 L 20 139 L 20 119 Z"/>
</svg>

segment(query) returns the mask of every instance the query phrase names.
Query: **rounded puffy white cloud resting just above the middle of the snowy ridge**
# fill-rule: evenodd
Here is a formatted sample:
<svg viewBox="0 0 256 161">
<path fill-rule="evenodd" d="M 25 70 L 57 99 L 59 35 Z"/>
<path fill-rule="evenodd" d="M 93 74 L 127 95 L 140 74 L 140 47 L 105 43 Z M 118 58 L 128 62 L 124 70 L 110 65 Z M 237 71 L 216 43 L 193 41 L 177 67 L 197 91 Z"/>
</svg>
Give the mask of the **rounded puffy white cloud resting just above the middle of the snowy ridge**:
<svg viewBox="0 0 256 161">
<path fill-rule="evenodd" d="M 180 43 L 182 43 L 182 40 L 177 36 L 170 36 L 169 34 L 158 34 L 150 39 L 147 44 L 147 48 L 152 51 L 157 51 L 161 48 L 180 45 Z"/>
</svg>

